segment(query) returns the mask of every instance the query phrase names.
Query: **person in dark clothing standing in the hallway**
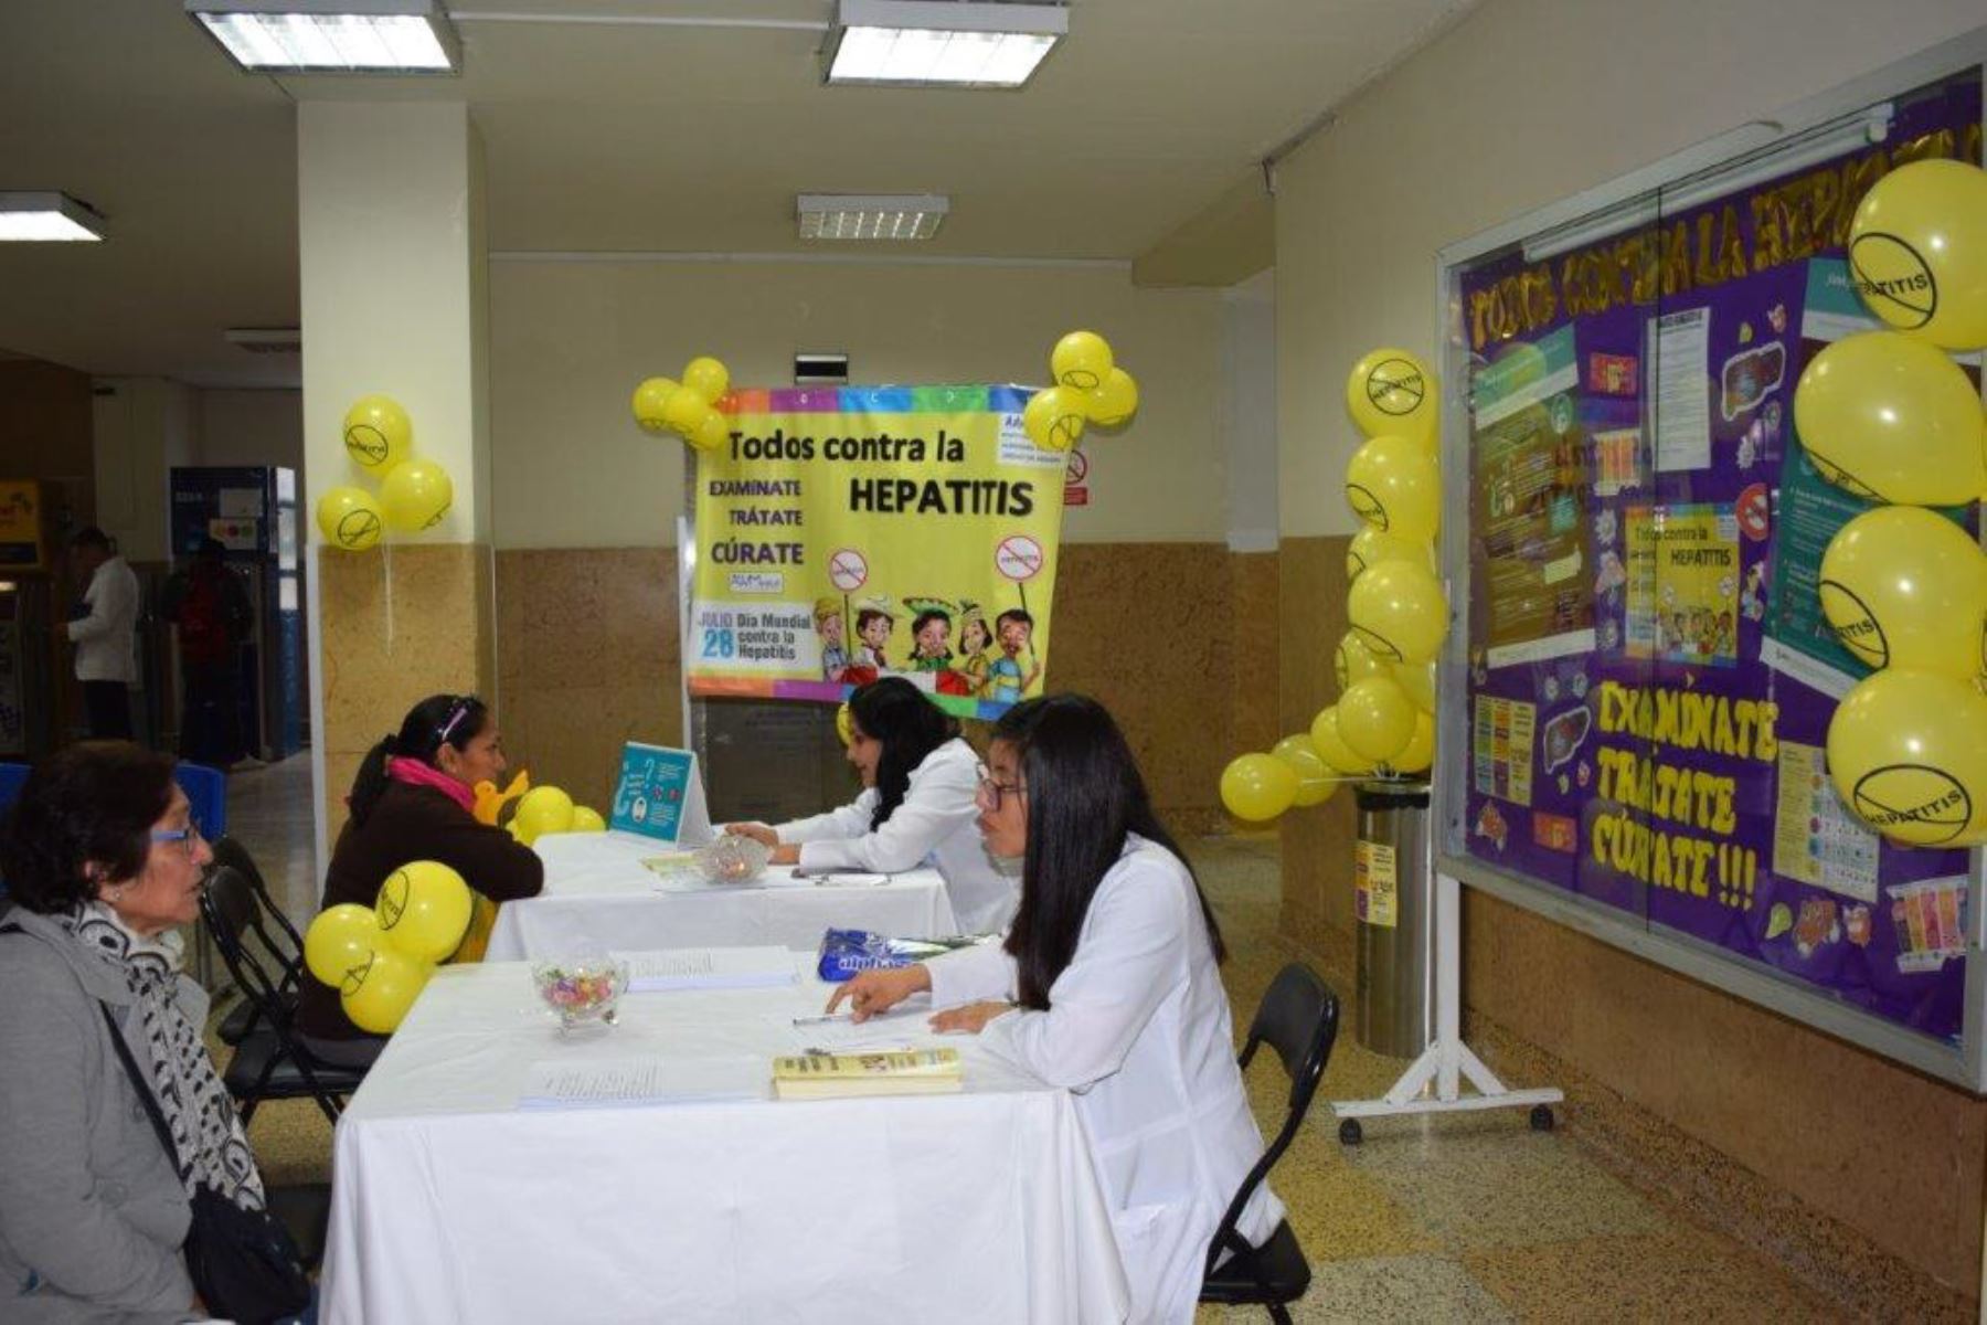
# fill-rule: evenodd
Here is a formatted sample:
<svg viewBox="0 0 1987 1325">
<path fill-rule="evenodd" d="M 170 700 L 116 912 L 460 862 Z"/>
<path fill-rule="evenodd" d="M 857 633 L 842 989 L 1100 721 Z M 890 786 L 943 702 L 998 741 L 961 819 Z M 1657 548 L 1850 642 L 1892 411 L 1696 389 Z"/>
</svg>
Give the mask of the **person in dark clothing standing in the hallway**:
<svg viewBox="0 0 1987 1325">
<path fill-rule="evenodd" d="M 165 620 L 179 628 L 179 757 L 215 769 L 244 753 L 238 646 L 254 622 L 248 590 L 223 560 L 219 538 L 201 538 L 193 564 L 165 584 Z"/>
</svg>

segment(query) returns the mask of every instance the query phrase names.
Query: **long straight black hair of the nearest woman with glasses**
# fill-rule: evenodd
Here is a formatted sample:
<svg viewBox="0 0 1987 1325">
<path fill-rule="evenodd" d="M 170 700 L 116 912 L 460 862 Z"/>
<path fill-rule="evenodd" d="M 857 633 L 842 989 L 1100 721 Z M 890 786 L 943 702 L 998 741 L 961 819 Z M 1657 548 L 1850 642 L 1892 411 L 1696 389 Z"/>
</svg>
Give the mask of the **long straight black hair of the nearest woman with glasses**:
<svg viewBox="0 0 1987 1325">
<path fill-rule="evenodd" d="M 1019 967 L 1021 1005 L 1041 1011 L 1077 952 L 1091 898 L 1125 852 L 1127 834 L 1170 850 L 1188 878 L 1194 868 L 1152 812 L 1139 761 L 1105 705 L 1089 695 L 1027 699 L 994 723 L 994 739 L 1013 747 L 1027 787 L 1021 910 L 1007 932 L 1007 952 Z M 1194 892 L 1214 959 L 1224 961 L 1228 948 L 1198 878 Z"/>
</svg>

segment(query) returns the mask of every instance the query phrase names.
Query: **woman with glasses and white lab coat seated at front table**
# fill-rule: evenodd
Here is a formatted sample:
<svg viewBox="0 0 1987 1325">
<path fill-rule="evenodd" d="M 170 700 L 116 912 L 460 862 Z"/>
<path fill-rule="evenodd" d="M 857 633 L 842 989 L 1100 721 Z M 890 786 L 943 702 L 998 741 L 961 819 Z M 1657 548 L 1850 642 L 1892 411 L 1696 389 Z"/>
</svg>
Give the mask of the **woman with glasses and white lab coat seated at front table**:
<svg viewBox="0 0 1987 1325">
<path fill-rule="evenodd" d="M 980 830 L 994 854 L 1025 858 L 1005 942 L 864 971 L 829 1011 L 846 999 L 862 1021 L 930 989 L 946 1009 L 934 1029 L 978 1033 L 1001 1059 L 1073 1091 L 1131 1319 L 1192 1321 L 1208 1242 L 1262 1158 L 1208 900 L 1095 699 L 1007 709 L 980 785 Z M 1260 1246 L 1282 1218 L 1264 1186 L 1240 1232 Z"/>
</svg>

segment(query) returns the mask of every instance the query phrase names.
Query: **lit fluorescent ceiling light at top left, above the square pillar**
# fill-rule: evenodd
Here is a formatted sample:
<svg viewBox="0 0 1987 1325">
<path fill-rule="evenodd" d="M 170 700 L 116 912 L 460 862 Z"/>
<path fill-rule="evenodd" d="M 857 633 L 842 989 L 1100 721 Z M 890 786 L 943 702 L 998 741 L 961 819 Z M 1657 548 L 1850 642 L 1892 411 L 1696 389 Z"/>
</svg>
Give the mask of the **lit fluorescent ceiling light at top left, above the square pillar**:
<svg viewBox="0 0 1987 1325">
<path fill-rule="evenodd" d="M 439 0 L 187 0 L 256 74 L 459 74 L 461 42 Z"/>
</svg>

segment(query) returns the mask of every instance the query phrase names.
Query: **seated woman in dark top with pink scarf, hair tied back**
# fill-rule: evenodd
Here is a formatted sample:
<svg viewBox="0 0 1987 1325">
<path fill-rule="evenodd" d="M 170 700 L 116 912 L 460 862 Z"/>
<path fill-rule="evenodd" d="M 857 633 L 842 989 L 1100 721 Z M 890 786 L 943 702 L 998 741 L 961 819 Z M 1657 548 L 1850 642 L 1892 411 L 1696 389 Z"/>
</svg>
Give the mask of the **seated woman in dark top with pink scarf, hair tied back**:
<svg viewBox="0 0 1987 1325">
<path fill-rule="evenodd" d="M 503 779 L 503 735 L 475 695 L 429 695 L 391 735 L 368 751 L 346 805 L 324 874 L 324 908 L 372 906 L 387 874 L 413 860 L 439 860 L 491 902 L 533 898 L 544 864 L 503 828 L 477 822 L 475 785 Z M 366 1067 L 383 1035 L 352 1025 L 338 989 L 306 979 L 296 1003 L 304 1047 L 326 1063 Z"/>
</svg>

